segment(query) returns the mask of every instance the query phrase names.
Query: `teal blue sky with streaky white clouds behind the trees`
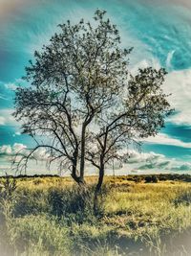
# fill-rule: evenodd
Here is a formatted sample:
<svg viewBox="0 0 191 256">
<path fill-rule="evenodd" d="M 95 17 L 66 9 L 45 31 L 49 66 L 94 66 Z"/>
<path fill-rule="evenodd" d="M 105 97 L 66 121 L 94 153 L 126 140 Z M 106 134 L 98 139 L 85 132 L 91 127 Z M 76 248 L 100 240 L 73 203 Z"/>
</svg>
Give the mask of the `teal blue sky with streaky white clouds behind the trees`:
<svg viewBox="0 0 191 256">
<path fill-rule="evenodd" d="M 49 43 L 57 24 L 82 17 L 91 21 L 97 8 L 117 24 L 122 46 L 134 47 L 130 72 L 146 66 L 166 68 L 163 90 L 171 94 L 175 108 L 158 136 L 146 139 L 141 151 L 131 149 L 129 162 L 122 167 L 116 163 L 116 171 L 191 172 L 190 0 L 0 0 L 0 175 L 10 170 L 16 151 L 32 146 L 11 113 L 14 90 L 24 85 L 21 78 L 33 52 Z M 39 158 L 43 153 L 38 152 Z M 29 172 L 47 170 L 40 161 Z"/>
</svg>

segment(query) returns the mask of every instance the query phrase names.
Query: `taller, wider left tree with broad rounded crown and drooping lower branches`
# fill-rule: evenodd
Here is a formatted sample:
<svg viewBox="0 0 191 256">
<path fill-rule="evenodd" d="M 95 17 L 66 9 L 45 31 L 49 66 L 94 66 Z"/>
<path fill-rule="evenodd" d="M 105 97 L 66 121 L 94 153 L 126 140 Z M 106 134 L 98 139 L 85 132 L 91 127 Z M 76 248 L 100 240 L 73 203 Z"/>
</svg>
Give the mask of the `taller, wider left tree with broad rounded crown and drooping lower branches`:
<svg viewBox="0 0 191 256">
<path fill-rule="evenodd" d="M 68 166 L 74 180 L 84 183 L 88 129 L 116 104 L 131 52 L 119 48 L 117 27 L 104 14 L 96 11 L 94 27 L 83 19 L 59 25 L 60 34 L 30 60 L 24 79 L 31 85 L 16 90 L 14 116 L 36 147 L 21 157 L 19 167 L 26 170 L 33 153 L 45 148 L 49 165 L 59 160 L 60 169 Z"/>
</svg>

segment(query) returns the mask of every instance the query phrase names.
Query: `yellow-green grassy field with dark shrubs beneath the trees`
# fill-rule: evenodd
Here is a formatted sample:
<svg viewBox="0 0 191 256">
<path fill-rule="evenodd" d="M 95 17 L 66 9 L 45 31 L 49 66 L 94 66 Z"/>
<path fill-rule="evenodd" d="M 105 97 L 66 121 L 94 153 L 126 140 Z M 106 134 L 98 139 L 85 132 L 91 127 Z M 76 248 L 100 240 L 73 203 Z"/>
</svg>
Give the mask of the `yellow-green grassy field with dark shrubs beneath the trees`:
<svg viewBox="0 0 191 256">
<path fill-rule="evenodd" d="M 189 175 L 106 176 L 97 216 L 95 182 L 1 178 L 0 255 L 191 255 Z"/>
</svg>

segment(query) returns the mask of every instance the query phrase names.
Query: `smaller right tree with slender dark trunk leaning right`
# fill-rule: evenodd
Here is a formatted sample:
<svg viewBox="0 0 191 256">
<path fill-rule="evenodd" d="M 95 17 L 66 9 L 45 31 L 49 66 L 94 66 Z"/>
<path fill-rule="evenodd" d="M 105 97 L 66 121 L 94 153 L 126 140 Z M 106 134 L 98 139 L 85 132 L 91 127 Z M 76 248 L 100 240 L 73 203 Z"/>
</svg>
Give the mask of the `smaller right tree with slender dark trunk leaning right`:
<svg viewBox="0 0 191 256">
<path fill-rule="evenodd" d="M 99 116 L 97 131 L 90 134 L 94 147 L 90 144 L 86 152 L 86 159 L 99 171 L 95 208 L 105 166 L 115 158 L 120 161 L 119 151 L 128 145 L 155 136 L 164 126 L 164 118 L 171 113 L 168 95 L 161 88 L 165 74 L 164 69 L 139 69 L 137 76 L 130 76 L 125 89 L 122 85 L 118 89 L 116 105 L 110 105 Z"/>
</svg>

